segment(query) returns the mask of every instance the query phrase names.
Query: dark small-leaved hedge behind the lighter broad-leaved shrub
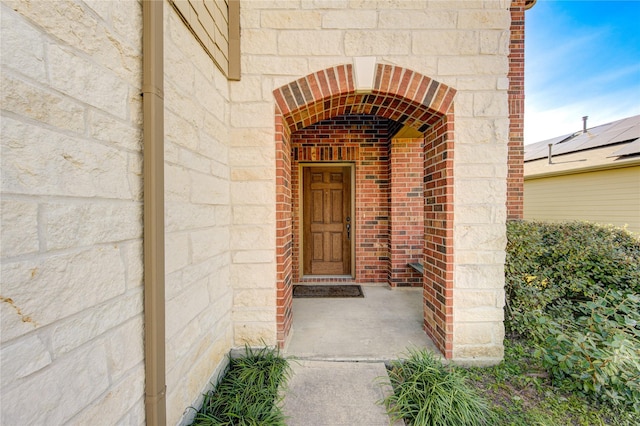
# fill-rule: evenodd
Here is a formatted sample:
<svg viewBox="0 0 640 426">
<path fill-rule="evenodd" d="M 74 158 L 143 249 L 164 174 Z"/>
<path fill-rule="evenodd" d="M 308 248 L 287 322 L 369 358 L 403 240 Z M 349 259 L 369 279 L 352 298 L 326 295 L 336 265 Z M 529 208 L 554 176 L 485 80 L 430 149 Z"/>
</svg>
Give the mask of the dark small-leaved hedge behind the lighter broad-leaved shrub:
<svg viewBox="0 0 640 426">
<path fill-rule="evenodd" d="M 509 332 L 526 337 L 541 314 L 570 318 L 575 303 L 609 289 L 640 293 L 640 241 L 629 232 L 578 222 L 510 222 L 507 237 Z"/>
</svg>

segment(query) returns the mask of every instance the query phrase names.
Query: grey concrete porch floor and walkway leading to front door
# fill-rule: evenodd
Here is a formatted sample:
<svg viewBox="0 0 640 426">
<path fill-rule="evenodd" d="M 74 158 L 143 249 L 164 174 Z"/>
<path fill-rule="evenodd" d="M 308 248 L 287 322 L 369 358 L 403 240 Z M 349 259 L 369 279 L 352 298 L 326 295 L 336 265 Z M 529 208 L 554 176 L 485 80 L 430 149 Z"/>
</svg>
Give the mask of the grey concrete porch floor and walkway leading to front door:
<svg viewBox="0 0 640 426">
<path fill-rule="evenodd" d="M 389 425 L 379 403 L 391 391 L 385 362 L 409 347 L 439 353 L 422 330 L 421 289 L 363 290 L 364 298 L 294 299 L 287 425 Z"/>
</svg>

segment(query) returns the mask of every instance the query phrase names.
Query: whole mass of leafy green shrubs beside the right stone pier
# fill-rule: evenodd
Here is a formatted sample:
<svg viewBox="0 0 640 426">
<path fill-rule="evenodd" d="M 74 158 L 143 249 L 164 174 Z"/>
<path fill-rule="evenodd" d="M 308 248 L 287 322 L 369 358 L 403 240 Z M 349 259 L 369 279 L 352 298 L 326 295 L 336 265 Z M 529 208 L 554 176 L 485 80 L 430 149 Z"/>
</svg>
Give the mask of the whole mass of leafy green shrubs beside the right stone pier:
<svg viewBox="0 0 640 426">
<path fill-rule="evenodd" d="M 566 389 L 640 409 L 640 240 L 587 223 L 507 227 L 505 325 Z"/>
</svg>

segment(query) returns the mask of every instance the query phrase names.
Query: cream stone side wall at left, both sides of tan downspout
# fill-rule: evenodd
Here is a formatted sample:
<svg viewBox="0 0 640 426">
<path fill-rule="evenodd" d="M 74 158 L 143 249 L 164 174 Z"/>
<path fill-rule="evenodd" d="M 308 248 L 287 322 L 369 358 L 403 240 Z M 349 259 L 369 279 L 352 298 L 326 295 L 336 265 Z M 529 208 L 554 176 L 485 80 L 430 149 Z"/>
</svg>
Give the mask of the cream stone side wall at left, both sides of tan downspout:
<svg viewBox="0 0 640 426">
<path fill-rule="evenodd" d="M 231 287 L 228 82 L 164 16 L 175 424 L 253 299 Z M 145 422 L 141 34 L 139 2 L 2 4 L 3 424 Z"/>
</svg>

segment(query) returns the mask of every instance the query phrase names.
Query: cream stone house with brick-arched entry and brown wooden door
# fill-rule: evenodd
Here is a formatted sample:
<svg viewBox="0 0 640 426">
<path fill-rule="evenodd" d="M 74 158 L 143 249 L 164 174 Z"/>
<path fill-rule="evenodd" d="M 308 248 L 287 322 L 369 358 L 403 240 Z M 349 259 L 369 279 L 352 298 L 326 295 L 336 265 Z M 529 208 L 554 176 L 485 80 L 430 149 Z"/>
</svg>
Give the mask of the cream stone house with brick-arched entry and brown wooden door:
<svg viewBox="0 0 640 426">
<path fill-rule="evenodd" d="M 2 1 L 0 423 L 187 421 L 298 282 L 498 362 L 534 2 Z"/>
</svg>

